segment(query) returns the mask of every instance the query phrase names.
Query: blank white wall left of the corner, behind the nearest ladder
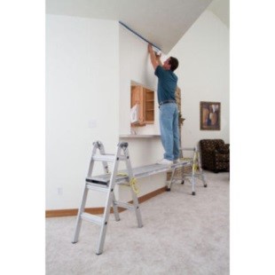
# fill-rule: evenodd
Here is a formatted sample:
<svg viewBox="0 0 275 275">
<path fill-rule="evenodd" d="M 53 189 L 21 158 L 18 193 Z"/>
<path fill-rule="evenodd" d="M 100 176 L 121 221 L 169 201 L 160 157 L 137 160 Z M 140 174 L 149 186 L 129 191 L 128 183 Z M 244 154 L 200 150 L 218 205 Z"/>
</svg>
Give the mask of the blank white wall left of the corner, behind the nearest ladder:
<svg viewBox="0 0 275 275">
<path fill-rule="evenodd" d="M 47 210 L 79 207 L 93 141 L 114 152 L 118 43 L 116 21 L 46 16 Z M 101 194 L 92 200 L 87 207 L 104 202 Z"/>
</svg>

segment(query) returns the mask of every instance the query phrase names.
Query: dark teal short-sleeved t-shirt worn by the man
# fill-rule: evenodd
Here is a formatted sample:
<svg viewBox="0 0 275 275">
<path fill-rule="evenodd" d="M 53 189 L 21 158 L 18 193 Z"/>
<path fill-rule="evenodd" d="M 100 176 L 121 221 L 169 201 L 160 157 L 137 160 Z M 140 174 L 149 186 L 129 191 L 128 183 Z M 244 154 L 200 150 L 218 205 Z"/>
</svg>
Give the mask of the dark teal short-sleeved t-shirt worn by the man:
<svg viewBox="0 0 275 275">
<path fill-rule="evenodd" d="M 175 100 L 175 91 L 177 89 L 177 75 L 171 70 L 165 70 L 158 66 L 155 68 L 154 75 L 159 79 L 158 81 L 158 102 L 166 100 Z"/>
</svg>

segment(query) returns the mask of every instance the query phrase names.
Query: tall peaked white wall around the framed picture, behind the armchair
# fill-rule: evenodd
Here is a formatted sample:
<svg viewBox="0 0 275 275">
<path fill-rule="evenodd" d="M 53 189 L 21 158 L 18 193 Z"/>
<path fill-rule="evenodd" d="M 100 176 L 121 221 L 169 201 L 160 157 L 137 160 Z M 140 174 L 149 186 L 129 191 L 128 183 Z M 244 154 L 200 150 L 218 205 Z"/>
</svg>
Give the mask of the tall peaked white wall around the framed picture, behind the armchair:
<svg viewBox="0 0 275 275">
<path fill-rule="evenodd" d="M 202 138 L 229 140 L 229 29 L 212 12 L 203 12 L 169 52 L 179 60 L 178 86 L 185 117 L 183 145 Z M 221 130 L 200 130 L 200 101 L 221 102 Z"/>
</svg>

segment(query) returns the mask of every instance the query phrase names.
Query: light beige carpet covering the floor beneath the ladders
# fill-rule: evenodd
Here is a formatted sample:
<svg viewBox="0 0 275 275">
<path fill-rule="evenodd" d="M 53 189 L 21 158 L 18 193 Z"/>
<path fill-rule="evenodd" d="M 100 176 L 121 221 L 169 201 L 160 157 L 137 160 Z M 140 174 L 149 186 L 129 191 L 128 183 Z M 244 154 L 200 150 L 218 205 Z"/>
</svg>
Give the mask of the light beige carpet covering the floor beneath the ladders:
<svg viewBox="0 0 275 275">
<path fill-rule="evenodd" d="M 96 255 L 99 226 L 83 221 L 72 244 L 75 216 L 46 219 L 46 274 L 229 274 L 229 173 L 205 172 L 196 195 L 191 184 L 172 185 L 134 212 L 110 216 L 102 255 Z"/>
</svg>

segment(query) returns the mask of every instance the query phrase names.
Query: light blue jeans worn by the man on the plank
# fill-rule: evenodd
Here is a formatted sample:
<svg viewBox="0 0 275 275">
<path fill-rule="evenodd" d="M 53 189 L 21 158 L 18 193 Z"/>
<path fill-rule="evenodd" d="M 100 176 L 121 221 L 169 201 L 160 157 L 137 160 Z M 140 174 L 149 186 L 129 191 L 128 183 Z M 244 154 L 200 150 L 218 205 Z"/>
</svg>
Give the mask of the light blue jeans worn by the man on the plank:
<svg viewBox="0 0 275 275">
<path fill-rule="evenodd" d="M 173 161 L 179 157 L 178 110 L 176 103 L 160 106 L 161 143 L 164 159 Z"/>
</svg>

